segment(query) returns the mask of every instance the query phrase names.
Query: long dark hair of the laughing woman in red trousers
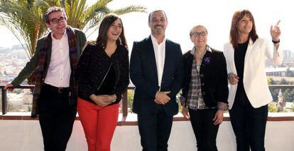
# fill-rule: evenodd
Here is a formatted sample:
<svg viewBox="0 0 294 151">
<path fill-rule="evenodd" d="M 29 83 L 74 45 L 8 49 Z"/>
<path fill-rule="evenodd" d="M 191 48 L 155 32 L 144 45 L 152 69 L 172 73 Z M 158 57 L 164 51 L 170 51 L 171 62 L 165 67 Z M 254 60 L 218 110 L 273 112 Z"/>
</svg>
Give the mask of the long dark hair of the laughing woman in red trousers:
<svg viewBox="0 0 294 151">
<path fill-rule="evenodd" d="M 114 23 L 114 21 L 116 21 L 116 19 L 119 19 L 121 21 L 121 18 L 119 18 L 119 16 L 117 16 L 116 14 L 107 14 L 106 16 L 104 16 L 99 26 L 99 33 L 96 41 L 98 46 L 105 47 L 107 45 L 107 32 L 109 30 L 109 27 Z M 119 43 L 120 46 L 128 48 L 128 45 L 126 44 L 126 38 L 124 36 L 124 26 L 122 24 L 122 21 L 121 35 L 119 35 L 116 43 Z"/>
</svg>

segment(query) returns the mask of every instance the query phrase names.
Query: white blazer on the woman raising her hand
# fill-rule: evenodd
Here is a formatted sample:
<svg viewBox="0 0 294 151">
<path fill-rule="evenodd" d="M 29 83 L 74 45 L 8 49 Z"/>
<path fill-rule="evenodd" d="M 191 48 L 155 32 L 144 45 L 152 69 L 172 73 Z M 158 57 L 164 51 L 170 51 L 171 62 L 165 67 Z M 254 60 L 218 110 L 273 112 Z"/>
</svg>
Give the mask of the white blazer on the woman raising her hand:
<svg viewBox="0 0 294 151">
<path fill-rule="evenodd" d="M 224 56 L 227 61 L 227 72 L 236 73 L 234 61 L 234 48 L 231 43 L 224 44 Z M 264 38 L 258 38 L 255 42 L 251 39 L 247 47 L 244 62 L 244 90 L 254 108 L 259 108 L 270 103 L 273 98 L 268 89 L 268 82 L 265 72 L 265 57 L 273 62 L 274 65 L 280 65 L 283 62 L 283 53 L 281 45 L 278 50 Z M 232 109 L 236 95 L 237 85 L 229 83 L 229 109 Z"/>
</svg>

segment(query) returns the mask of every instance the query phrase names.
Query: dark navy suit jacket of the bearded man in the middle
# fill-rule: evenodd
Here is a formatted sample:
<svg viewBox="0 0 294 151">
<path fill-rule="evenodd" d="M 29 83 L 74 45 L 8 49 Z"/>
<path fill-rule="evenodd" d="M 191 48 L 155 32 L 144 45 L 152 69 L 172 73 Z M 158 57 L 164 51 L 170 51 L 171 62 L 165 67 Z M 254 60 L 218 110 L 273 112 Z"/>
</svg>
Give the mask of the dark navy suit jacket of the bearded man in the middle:
<svg viewBox="0 0 294 151">
<path fill-rule="evenodd" d="M 130 77 L 136 86 L 134 94 L 133 111 L 138 114 L 148 114 L 156 110 L 154 102 L 158 87 L 158 74 L 156 58 L 151 36 L 140 42 L 134 42 L 131 51 Z M 175 100 L 183 85 L 183 55 L 178 43 L 166 40 L 165 63 L 161 91 L 170 91 L 170 101 L 163 105 L 167 115 L 178 113 L 178 103 Z"/>
</svg>

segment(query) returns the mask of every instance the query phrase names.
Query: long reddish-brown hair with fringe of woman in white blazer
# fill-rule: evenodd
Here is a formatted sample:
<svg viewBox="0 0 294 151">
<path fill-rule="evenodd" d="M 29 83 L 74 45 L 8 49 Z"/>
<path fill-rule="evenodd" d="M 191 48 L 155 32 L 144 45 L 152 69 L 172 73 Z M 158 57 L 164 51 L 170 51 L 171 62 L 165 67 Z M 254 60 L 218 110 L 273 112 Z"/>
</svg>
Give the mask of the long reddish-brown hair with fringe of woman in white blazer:
<svg viewBox="0 0 294 151">
<path fill-rule="evenodd" d="M 244 9 L 241 11 L 236 11 L 233 15 L 231 30 L 229 32 L 229 41 L 230 41 L 230 43 L 232 43 L 232 46 L 234 49 L 238 48 L 238 40 L 239 40 L 239 33 L 238 33 L 238 28 L 237 28 L 238 25 L 237 24 L 246 15 L 248 15 L 252 21 L 252 29 L 249 33 L 249 38 L 251 38 L 252 41 L 254 41 L 254 42 L 258 38 L 258 35 L 256 34 L 254 17 L 251 14 L 251 12 L 247 9 Z"/>
</svg>

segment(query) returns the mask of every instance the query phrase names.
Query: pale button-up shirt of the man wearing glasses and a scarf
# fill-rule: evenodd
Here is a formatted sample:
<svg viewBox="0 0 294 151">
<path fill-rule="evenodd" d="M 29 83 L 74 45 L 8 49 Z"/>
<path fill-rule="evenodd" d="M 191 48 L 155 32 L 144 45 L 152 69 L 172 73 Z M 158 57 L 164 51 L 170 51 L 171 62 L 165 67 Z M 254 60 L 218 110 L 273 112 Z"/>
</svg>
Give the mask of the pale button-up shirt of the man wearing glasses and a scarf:
<svg viewBox="0 0 294 151">
<path fill-rule="evenodd" d="M 55 87 L 70 87 L 70 51 L 65 32 L 61 39 L 52 37 L 52 53 L 45 83 Z"/>
</svg>

